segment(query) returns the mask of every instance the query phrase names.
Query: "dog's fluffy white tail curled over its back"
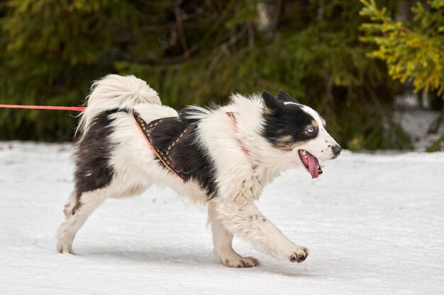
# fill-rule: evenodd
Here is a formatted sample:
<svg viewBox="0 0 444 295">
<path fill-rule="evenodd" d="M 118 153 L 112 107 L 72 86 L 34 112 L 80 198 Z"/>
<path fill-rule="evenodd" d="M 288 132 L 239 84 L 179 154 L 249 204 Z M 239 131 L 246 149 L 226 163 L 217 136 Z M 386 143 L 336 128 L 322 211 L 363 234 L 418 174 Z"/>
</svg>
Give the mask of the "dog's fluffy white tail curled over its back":
<svg viewBox="0 0 444 295">
<path fill-rule="evenodd" d="M 80 114 L 77 132 L 87 132 L 94 118 L 107 110 L 131 110 L 139 103 L 162 105 L 156 91 L 135 76 L 111 74 L 94 81 L 87 109 Z"/>
</svg>

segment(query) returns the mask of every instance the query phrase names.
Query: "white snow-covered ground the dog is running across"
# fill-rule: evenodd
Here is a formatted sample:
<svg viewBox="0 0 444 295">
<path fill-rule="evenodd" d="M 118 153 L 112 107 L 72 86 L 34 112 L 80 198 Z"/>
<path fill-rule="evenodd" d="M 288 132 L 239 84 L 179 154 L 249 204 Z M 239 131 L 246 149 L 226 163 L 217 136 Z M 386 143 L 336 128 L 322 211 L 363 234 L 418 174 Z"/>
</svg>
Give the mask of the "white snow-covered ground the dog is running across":
<svg viewBox="0 0 444 295">
<path fill-rule="evenodd" d="M 344 152 L 318 180 L 284 173 L 258 206 L 311 255 L 290 264 L 236 240 L 253 269 L 218 265 L 204 211 L 158 189 L 106 202 L 60 255 L 71 153 L 0 143 L 0 294 L 444 293 L 444 153 Z"/>
</svg>

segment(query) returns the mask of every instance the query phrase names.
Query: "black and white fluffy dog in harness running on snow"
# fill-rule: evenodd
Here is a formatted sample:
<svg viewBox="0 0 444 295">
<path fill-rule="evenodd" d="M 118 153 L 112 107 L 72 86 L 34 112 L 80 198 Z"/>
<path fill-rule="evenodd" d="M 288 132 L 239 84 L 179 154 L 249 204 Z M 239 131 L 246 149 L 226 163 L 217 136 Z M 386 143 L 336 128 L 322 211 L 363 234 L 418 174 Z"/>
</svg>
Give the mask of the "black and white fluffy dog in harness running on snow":
<svg viewBox="0 0 444 295">
<path fill-rule="evenodd" d="M 167 185 L 208 206 L 214 251 L 223 265 L 260 265 L 233 250 L 233 235 L 280 260 L 302 262 L 309 251 L 289 241 L 255 200 L 283 170 L 303 166 L 317 178 L 318 159 L 339 156 L 342 149 L 325 124 L 284 91 L 277 97 L 234 94 L 226 106 L 178 113 L 162 105 L 145 81 L 105 76 L 93 84 L 81 114 L 74 192 L 57 250 L 73 253 L 74 236 L 106 198 Z"/>
</svg>

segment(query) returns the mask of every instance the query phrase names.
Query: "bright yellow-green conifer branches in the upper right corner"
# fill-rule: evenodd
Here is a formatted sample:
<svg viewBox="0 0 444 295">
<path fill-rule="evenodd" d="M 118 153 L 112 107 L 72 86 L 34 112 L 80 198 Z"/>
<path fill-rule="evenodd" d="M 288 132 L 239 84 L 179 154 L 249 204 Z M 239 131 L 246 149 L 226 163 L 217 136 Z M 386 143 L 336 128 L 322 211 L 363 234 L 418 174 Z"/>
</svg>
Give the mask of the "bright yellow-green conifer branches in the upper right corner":
<svg viewBox="0 0 444 295">
<path fill-rule="evenodd" d="M 374 0 L 360 0 L 360 14 L 370 18 L 361 29 L 364 42 L 374 42 L 378 48 L 368 54 L 387 62 L 389 75 L 402 83 L 413 81 L 416 91 L 438 91 L 444 94 L 444 1 L 416 2 L 411 8 L 414 23 L 411 28 L 394 21 L 386 8 L 378 9 Z"/>
</svg>

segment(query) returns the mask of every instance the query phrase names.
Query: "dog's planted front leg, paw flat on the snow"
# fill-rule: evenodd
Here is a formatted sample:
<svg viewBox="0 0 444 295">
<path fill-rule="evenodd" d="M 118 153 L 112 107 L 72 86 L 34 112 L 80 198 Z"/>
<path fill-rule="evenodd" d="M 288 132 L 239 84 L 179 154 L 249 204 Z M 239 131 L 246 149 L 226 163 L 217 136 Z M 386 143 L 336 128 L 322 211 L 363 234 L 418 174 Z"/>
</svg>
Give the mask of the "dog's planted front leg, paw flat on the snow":
<svg viewBox="0 0 444 295">
<path fill-rule="evenodd" d="M 255 267 L 260 261 L 252 257 L 243 257 L 233 250 L 233 235 L 223 227 L 217 218 L 212 202 L 209 202 L 208 221 L 213 230 L 214 253 L 223 265 L 228 267 Z"/>
</svg>

